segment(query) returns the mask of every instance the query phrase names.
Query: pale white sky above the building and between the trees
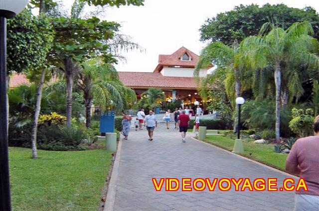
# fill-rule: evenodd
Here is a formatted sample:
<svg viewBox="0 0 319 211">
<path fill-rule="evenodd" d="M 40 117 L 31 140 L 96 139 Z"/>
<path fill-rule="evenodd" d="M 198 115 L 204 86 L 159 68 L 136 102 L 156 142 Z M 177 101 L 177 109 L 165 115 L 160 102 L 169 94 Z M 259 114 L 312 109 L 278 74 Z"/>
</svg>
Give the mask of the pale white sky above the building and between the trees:
<svg viewBox="0 0 319 211">
<path fill-rule="evenodd" d="M 70 6 L 72 0 L 63 3 Z M 123 52 L 126 62 L 119 62 L 116 69 L 153 72 L 159 54 L 172 54 L 182 46 L 199 55 L 205 46 L 199 41 L 199 28 L 205 20 L 236 5 L 251 3 L 312 6 L 319 11 L 319 0 L 145 0 L 144 6 L 108 7 L 102 19 L 120 23 L 121 33 L 131 36 L 145 49 Z"/>
</svg>

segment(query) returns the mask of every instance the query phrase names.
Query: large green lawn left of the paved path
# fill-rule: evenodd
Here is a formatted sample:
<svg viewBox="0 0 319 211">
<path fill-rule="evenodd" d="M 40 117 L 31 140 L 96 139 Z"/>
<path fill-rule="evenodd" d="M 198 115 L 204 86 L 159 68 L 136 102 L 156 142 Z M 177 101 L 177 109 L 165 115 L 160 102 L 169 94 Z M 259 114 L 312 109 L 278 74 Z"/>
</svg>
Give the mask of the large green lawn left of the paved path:
<svg viewBox="0 0 319 211">
<path fill-rule="evenodd" d="M 9 148 L 13 211 L 96 211 L 112 154 Z"/>
</svg>

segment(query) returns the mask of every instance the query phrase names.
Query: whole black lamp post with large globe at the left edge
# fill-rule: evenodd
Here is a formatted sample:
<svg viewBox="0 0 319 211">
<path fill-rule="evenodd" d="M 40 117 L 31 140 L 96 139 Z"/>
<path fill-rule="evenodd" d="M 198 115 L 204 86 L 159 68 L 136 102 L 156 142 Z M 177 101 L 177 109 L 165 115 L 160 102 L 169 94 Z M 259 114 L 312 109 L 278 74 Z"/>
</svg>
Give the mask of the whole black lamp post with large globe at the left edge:
<svg viewBox="0 0 319 211">
<path fill-rule="evenodd" d="M 0 211 L 11 211 L 8 162 L 6 19 L 21 12 L 28 0 L 0 0 Z"/>
</svg>

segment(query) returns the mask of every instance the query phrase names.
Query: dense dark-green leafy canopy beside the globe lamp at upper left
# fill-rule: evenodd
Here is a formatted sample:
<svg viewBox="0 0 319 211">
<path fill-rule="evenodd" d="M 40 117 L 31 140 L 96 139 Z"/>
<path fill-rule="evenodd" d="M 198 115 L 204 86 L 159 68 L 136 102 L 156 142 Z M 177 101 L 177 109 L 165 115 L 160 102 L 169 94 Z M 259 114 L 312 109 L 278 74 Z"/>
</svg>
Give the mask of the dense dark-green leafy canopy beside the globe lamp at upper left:
<svg viewBox="0 0 319 211">
<path fill-rule="evenodd" d="M 24 10 L 8 20 L 7 72 L 29 71 L 46 65 L 54 31 L 45 15 Z"/>
</svg>

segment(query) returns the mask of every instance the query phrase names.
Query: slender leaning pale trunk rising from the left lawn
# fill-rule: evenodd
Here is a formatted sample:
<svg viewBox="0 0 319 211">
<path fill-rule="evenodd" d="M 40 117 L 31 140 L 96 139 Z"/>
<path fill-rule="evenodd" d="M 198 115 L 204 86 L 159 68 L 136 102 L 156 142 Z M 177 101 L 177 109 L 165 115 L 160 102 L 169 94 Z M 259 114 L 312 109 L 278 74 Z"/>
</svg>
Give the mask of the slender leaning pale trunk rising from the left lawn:
<svg viewBox="0 0 319 211">
<path fill-rule="evenodd" d="M 37 128 L 38 128 L 38 119 L 39 119 L 39 114 L 41 110 L 42 88 L 44 84 L 44 78 L 45 78 L 45 69 L 43 68 L 41 72 L 39 85 L 36 88 L 36 103 L 35 103 L 35 109 L 34 109 L 34 118 L 33 118 L 33 124 L 32 124 L 32 134 L 31 134 L 32 158 L 38 158 L 38 155 L 36 152 L 36 135 L 37 135 Z"/>
</svg>

